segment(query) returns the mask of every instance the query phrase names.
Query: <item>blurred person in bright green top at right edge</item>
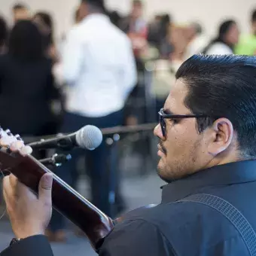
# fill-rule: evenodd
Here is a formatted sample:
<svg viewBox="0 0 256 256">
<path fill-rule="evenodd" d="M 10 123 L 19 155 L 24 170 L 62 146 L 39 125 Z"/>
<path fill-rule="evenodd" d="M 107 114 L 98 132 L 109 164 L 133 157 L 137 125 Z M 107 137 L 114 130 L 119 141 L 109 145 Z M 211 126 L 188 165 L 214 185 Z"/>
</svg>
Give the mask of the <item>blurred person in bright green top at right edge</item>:
<svg viewBox="0 0 256 256">
<path fill-rule="evenodd" d="M 251 14 L 251 34 L 242 35 L 235 48 L 236 54 L 256 55 L 256 9 Z"/>
</svg>

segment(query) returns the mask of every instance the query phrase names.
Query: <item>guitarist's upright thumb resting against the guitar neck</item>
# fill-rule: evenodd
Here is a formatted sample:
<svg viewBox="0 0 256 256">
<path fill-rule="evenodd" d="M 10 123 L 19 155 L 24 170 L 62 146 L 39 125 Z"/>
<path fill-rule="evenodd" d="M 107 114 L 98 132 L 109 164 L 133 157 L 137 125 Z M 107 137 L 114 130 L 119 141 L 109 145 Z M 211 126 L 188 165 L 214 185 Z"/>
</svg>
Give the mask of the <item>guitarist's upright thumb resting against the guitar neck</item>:
<svg viewBox="0 0 256 256">
<path fill-rule="evenodd" d="M 53 175 L 44 174 L 39 182 L 38 198 L 42 203 L 51 205 L 51 190 L 53 187 Z"/>
</svg>

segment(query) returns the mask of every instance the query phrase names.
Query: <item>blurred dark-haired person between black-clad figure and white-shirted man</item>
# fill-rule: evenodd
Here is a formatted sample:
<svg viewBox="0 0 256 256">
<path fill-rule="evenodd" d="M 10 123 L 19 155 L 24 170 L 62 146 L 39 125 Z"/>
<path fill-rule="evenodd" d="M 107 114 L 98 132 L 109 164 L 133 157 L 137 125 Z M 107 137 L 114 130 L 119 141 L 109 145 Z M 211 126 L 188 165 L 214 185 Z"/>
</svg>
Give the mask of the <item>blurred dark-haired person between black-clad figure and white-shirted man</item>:
<svg viewBox="0 0 256 256">
<path fill-rule="evenodd" d="M 38 12 L 33 17 L 33 21 L 43 35 L 45 53 L 53 59 L 54 62 L 56 62 L 58 60 L 58 56 L 53 38 L 53 18 L 46 12 Z"/>
</svg>

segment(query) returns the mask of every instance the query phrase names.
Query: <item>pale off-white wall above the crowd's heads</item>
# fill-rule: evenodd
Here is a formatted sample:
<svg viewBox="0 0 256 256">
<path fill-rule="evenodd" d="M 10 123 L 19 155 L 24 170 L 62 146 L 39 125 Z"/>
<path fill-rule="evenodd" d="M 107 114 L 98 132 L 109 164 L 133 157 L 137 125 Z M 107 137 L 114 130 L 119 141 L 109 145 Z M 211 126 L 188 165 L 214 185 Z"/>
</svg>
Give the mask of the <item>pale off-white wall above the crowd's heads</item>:
<svg viewBox="0 0 256 256">
<path fill-rule="evenodd" d="M 19 0 L 0 0 L 0 14 L 11 16 L 11 6 Z M 72 15 L 79 0 L 20 0 L 32 11 L 47 10 L 54 14 L 56 32 L 61 35 L 72 25 Z M 197 20 L 204 24 L 209 35 L 215 34 L 216 26 L 224 18 L 234 18 L 242 31 L 248 31 L 251 9 L 256 8 L 255 0 L 145 0 L 145 17 L 155 13 L 168 12 L 176 22 L 186 23 Z M 130 0 L 106 0 L 109 8 L 122 14 L 130 10 Z"/>
</svg>

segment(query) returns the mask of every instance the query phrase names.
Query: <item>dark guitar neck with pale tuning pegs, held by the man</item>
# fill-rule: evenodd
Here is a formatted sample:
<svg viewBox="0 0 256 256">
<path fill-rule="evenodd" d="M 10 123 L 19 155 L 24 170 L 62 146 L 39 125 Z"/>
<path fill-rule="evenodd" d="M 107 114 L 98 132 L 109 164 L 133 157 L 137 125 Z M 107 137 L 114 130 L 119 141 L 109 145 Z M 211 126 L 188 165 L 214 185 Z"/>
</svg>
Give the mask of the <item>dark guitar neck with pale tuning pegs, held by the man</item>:
<svg viewBox="0 0 256 256">
<path fill-rule="evenodd" d="M 0 143 L 2 172 L 5 175 L 11 172 L 37 194 L 41 177 L 53 172 L 30 155 L 32 148 L 25 146 L 20 136 L 13 136 L 9 130 L 0 129 Z M 12 148 L 20 150 L 12 151 Z M 52 201 L 53 208 L 81 228 L 93 249 L 98 252 L 115 222 L 54 174 Z"/>
</svg>

